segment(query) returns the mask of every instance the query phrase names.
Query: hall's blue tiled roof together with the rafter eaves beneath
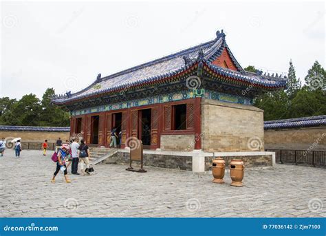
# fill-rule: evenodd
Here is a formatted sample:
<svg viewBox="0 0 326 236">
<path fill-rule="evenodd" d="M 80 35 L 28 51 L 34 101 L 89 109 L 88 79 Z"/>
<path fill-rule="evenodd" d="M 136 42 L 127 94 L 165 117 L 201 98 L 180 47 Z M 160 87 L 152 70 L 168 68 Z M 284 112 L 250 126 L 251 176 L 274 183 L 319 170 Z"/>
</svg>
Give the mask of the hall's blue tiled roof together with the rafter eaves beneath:
<svg viewBox="0 0 326 236">
<path fill-rule="evenodd" d="M 126 69 L 110 76 L 101 77 L 98 74 L 96 81 L 81 90 L 72 94 L 67 92 L 64 95 L 56 96 L 52 102 L 58 105 L 77 103 L 85 98 L 93 99 L 102 96 L 120 94 L 124 90 L 144 89 L 157 85 L 169 84 L 172 81 L 182 79 L 186 74 L 197 71 L 198 67 L 204 68 L 204 74 L 213 78 L 219 83 L 226 85 L 249 85 L 257 90 L 284 89 L 286 77 L 282 78 L 277 74 L 262 74 L 246 72 L 233 56 L 226 44 L 226 35 L 223 30 L 217 31 L 216 39 L 190 47 L 181 52 L 164 56 L 162 58 L 144 63 L 130 69 Z M 232 61 L 234 69 L 217 65 L 221 54 L 227 53 Z"/>
</svg>

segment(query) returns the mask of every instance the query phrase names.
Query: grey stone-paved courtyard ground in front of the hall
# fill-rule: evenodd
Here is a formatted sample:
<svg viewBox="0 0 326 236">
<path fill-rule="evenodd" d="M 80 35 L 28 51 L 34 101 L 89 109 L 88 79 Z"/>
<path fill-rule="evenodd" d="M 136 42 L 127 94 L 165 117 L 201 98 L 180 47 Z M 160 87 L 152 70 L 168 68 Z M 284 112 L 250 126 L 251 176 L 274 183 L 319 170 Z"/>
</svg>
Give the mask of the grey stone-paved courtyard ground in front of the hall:
<svg viewBox="0 0 326 236">
<path fill-rule="evenodd" d="M 52 152 L 50 152 L 52 153 Z M 213 184 L 212 175 L 147 167 L 132 173 L 116 164 L 94 175 L 59 173 L 50 153 L 6 150 L 0 158 L 1 217 L 326 217 L 326 171 L 278 164 L 246 169 L 243 187 Z M 70 169 L 69 169 L 70 172 Z"/>
</svg>

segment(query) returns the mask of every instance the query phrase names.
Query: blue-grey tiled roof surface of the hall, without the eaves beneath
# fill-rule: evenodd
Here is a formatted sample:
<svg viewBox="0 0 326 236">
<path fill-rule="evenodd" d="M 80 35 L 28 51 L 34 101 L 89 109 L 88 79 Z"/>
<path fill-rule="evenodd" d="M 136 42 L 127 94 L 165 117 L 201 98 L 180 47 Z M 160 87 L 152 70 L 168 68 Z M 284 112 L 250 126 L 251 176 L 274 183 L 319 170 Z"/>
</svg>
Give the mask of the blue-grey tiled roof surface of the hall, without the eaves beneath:
<svg viewBox="0 0 326 236">
<path fill-rule="evenodd" d="M 212 64 L 215 58 L 221 55 L 224 48 L 228 50 L 238 72 Z M 61 104 L 72 100 L 80 100 L 89 96 L 96 96 L 97 94 L 105 94 L 118 89 L 124 89 L 125 87 L 159 81 L 162 78 L 169 78 L 195 65 L 195 63 L 198 63 L 199 50 L 204 52 L 204 58 L 201 58 L 201 60 L 204 61 L 208 67 L 222 76 L 230 76 L 231 78 L 239 79 L 240 81 L 246 81 L 270 88 L 285 87 L 286 85 L 285 78 L 263 76 L 261 74 L 245 72 L 226 44 L 225 34 L 223 31 L 218 31 L 217 38 L 212 41 L 196 45 L 195 47 L 190 47 L 169 56 L 164 56 L 154 61 L 150 61 L 149 63 L 126 69 L 116 74 L 111 74 L 110 76 L 98 78 L 94 83 L 89 85 L 89 87 L 86 87 L 80 92 L 56 97 L 53 101 L 54 103 Z"/>
</svg>

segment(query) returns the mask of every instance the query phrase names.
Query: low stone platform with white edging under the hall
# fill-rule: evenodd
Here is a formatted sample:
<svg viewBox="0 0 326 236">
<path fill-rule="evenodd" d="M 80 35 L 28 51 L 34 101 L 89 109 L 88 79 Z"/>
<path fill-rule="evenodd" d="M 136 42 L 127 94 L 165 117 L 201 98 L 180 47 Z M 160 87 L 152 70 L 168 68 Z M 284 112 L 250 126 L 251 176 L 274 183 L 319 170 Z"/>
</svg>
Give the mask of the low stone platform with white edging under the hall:
<svg viewBox="0 0 326 236">
<path fill-rule="evenodd" d="M 156 149 L 144 150 L 144 166 L 205 173 L 211 170 L 213 156 L 224 158 L 226 169 L 229 168 L 230 161 L 236 158 L 243 160 L 246 168 L 275 165 L 275 153 L 270 151 L 216 152 L 213 154 L 202 150 L 185 152 Z M 129 149 L 119 149 L 109 162 L 129 164 Z M 137 165 L 139 162 L 133 161 L 133 164 Z"/>
</svg>

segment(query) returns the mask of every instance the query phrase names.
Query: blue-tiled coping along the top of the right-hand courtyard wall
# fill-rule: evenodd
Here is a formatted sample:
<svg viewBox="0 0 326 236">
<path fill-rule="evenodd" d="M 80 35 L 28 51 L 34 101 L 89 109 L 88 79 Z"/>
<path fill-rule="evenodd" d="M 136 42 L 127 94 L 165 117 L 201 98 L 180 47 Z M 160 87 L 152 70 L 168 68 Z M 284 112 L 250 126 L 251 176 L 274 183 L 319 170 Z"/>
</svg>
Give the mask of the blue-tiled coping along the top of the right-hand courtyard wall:
<svg viewBox="0 0 326 236">
<path fill-rule="evenodd" d="M 310 116 L 285 120 L 269 120 L 264 122 L 264 129 L 290 129 L 318 126 L 326 126 L 326 116 Z"/>
</svg>

